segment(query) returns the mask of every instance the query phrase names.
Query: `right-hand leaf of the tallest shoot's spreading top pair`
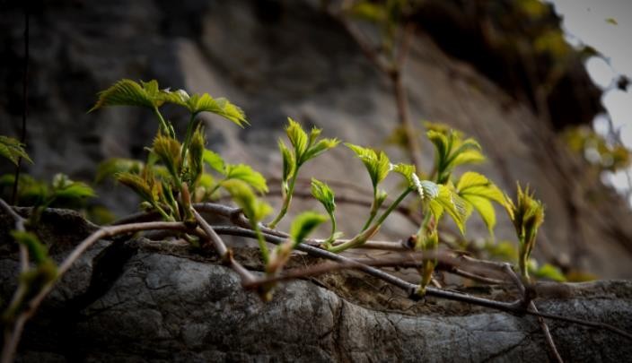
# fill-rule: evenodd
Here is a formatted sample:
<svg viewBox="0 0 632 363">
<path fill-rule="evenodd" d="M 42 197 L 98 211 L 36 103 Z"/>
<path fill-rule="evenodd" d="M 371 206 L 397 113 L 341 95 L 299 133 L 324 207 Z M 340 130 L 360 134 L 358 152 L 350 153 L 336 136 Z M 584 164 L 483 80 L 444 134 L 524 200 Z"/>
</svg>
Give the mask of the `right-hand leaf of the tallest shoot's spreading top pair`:
<svg viewBox="0 0 632 363">
<path fill-rule="evenodd" d="M 193 115 L 198 115 L 201 112 L 211 112 L 233 121 L 233 123 L 241 127 L 249 125 L 241 108 L 233 105 L 228 99 L 214 99 L 208 93 L 201 95 L 194 93 L 189 96 L 184 90 L 171 91 L 164 97 L 164 100 L 189 109 L 189 112 Z"/>
</svg>

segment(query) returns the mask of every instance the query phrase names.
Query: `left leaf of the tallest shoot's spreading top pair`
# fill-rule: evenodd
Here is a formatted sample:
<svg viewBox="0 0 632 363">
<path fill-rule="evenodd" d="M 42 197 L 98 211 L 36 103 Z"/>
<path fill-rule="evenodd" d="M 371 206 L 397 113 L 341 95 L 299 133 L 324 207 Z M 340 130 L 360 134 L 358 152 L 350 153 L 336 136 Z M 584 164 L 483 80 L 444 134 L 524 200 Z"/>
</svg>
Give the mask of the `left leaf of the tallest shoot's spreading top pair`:
<svg viewBox="0 0 632 363">
<path fill-rule="evenodd" d="M 164 94 L 158 90 L 158 82 L 142 82 L 123 79 L 109 89 L 99 92 L 97 103 L 88 112 L 109 106 L 140 106 L 156 108 L 164 102 Z"/>
</svg>

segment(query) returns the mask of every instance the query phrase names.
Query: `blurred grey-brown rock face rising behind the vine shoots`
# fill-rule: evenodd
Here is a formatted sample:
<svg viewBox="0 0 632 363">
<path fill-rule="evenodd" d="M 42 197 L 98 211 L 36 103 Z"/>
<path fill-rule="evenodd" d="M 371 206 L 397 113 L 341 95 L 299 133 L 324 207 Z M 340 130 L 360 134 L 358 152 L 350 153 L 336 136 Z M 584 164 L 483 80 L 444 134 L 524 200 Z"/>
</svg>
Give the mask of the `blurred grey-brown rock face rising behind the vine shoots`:
<svg viewBox="0 0 632 363">
<path fill-rule="evenodd" d="M 101 160 L 145 157 L 143 147 L 156 129 L 151 115 L 133 108 L 85 114 L 95 93 L 120 78 L 155 78 L 165 87 L 233 100 L 252 126 L 241 130 L 207 117 L 209 147 L 268 176 L 280 173 L 276 139 L 287 116 L 344 141 L 384 145 L 397 125 L 390 86 L 318 3 L 42 3 L 31 16 L 29 152 L 36 162 L 28 171 L 35 177 L 61 171 L 91 180 Z M 0 70 L 0 134 L 16 135 L 22 112 L 23 25 L 20 9 L 6 6 L 0 16 L 7 65 Z M 507 190 L 521 180 L 537 191 L 547 205 L 536 248 L 540 258 L 601 277 L 632 277 L 632 214 L 625 203 L 564 151 L 552 125 L 471 65 L 447 56 L 434 40 L 441 41 L 420 31 L 406 65 L 412 119 L 443 121 L 476 137 L 489 157 L 476 169 Z M 186 117 L 173 109 L 167 114 L 183 132 Z M 398 150 L 385 147 L 391 159 L 403 160 Z M 424 166 L 430 169 L 431 145 L 423 148 Z M 12 171 L 7 163 L 0 168 Z M 342 147 L 304 171 L 304 177 L 369 187 L 362 164 Z M 121 215 L 136 209 L 136 197 L 126 190 L 105 185 L 99 194 L 101 203 Z M 296 203 L 293 209 L 303 207 L 317 204 Z M 342 206 L 343 213 L 341 228 L 353 234 L 366 211 Z M 414 230 L 393 218 L 382 237 L 403 238 Z M 486 236 L 476 219 L 469 231 L 470 237 Z M 513 239 L 504 217 L 496 236 Z"/>
</svg>

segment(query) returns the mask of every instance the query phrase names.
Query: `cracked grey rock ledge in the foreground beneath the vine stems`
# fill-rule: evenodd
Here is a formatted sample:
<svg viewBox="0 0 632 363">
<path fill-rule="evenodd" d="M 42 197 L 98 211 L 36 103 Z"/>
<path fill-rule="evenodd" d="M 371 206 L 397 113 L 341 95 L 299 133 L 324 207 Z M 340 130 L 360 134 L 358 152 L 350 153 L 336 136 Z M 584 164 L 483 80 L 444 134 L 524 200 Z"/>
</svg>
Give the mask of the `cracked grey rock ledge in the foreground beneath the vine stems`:
<svg viewBox="0 0 632 363">
<path fill-rule="evenodd" d="M 69 212 L 49 212 L 42 220 L 40 237 L 57 260 L 73 246 L 70 236 L 54 239 L 60 230 L 72 226 L 82 231 L 74 236 L 80 240 L 93 229 Z M 237 249 L 237 257 L 256 268 L 249 255 Z M 298 258 L 304 263 L 307 257 Z M 4 245 L 0 298 L 10 297 L 17 270 L 15 251 Z M 629 281 L 541 285 L 536 303 L 540 311 L 630 331 L 630 291 Z M 632 354 L 619 335 L 549 325 L 566 361 L 624 361 Z M 215 256 L 138 238 L 101 241 L 83 255 L 26 326 L 17 361 L 516 362 L 547 361 L 547 351 L 532 317 L 434 298 L 414 303 L 356 272 L 289 282 L 263 303 Z"/>
</svg>

